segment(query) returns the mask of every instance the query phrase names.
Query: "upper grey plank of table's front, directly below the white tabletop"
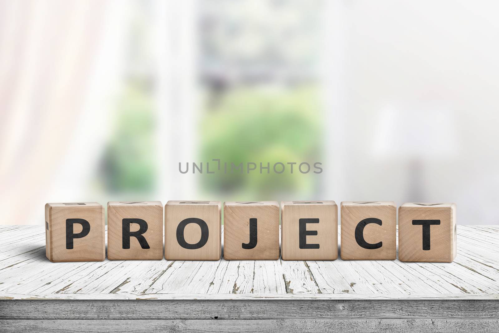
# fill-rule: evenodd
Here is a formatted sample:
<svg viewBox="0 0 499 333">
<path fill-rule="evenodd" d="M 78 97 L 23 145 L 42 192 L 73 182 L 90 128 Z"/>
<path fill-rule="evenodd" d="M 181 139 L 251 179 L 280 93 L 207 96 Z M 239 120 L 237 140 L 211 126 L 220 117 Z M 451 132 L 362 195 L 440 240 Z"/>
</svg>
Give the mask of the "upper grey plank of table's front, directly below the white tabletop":
<svg viewBox="0 0 499 333">
<path fill-rule="evenodd" d="M 0 319 L 499 319 L 483 300 L 0 301 Z"/>
</svg>

